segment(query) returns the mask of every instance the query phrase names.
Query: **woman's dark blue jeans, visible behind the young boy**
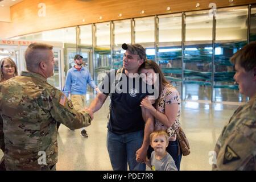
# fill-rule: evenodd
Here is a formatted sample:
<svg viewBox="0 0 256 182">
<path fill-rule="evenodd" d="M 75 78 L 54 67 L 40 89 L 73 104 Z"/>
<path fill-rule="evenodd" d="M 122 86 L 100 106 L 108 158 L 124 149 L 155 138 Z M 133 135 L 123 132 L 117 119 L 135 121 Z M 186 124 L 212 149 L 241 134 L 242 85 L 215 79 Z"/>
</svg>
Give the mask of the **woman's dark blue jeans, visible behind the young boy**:
<svg viewBox="0 0 256 182">
<path fill-rule="evenodd" d="M 175 166 L 180 171 L 180 162 L 181 162 L 182 153 L 180 151 L 180 155 L 178 155 L 178 151 L 179 151 L 178 144 L 179 143 L 177 142 L 177 140 L 169 141 L 166 151 L 172 156 L 172 159 L 174 159 L 174 162 L 175 162 Z M 152 151 L 154 151 L 154 149 L 151 146 L 149 146 L 147 150 L 148 159 L 150 159 Z"/>
</svg>

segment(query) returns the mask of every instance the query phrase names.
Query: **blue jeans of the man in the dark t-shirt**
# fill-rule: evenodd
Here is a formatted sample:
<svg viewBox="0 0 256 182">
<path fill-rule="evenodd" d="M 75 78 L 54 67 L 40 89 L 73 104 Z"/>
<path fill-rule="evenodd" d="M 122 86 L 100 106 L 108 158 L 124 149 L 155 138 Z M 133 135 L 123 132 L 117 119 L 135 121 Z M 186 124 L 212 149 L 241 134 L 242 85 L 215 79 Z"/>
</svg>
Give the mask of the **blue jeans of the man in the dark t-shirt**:
<svg viewBox="0 0 256 182">
<path fill-rule="evenodd" d="M 145 171 L 146 164 L 136 162 L 136 151 L 143 143 L 144 131 L 117 135 L 108 131 L 107 148 L 114 171 L 127 171 L 127 162 L 130 171 Z"/>
</svg>

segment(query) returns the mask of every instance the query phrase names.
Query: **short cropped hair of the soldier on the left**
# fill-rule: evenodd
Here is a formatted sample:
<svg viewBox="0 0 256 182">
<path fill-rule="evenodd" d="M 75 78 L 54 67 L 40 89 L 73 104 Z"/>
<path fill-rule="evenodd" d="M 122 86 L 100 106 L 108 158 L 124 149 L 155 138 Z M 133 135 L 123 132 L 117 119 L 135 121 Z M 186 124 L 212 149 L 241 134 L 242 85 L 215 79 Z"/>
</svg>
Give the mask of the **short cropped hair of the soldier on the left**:
<svg viewBox="0 0 256 182">
<path fill-rule="evenodd" d="M 49 57 L 46 51 L 51 51 L 53 46 L 43 43 L 32 43 L 25 52 L 25 61 L 28 71 L 35 71 L 40 62 L 47 60 Z"/>
</svg>

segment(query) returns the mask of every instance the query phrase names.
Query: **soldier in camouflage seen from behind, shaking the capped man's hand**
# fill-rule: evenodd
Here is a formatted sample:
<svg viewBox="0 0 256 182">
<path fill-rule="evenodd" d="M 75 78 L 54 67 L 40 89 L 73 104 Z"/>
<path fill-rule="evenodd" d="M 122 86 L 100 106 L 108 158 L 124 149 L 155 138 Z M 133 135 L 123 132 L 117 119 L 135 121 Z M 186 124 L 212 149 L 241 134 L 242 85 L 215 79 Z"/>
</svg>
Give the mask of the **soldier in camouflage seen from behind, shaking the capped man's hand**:
<svg viewBox="0 0 256 182">
<path fill-rule="evenodd" d="M 73 109 L 72 102 L 48 84 L 53 58 L 52 46 L 31 44 L 25 52 L 28 72 L 0 84 L 0 147 L 7 170 L 55 169 L 56 122 L 70 129 L 90 125 L 92 115 Z"/>
</svg>

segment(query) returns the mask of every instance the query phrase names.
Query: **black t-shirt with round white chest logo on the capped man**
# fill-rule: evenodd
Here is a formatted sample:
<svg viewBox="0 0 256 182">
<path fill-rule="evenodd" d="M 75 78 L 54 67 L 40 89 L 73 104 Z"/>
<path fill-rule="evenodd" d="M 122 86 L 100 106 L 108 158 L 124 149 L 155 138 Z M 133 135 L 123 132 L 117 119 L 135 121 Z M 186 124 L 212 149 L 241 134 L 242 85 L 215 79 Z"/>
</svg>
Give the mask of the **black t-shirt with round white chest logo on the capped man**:
<svg viewBox="0 0 256 182">
<path fill-rule="evenodd" d="M 144 130 L 144 120 L 142 118 L 141 106 L 139 105 L 144 97 L 151 95 L 148 93 L 148 89 L 142 89 L 142 86 L 146 84 L 144 84 L 142 78 L 129 78 L 126 76 L 124 69 L 122 76 L 126 77 L 126 81 L 123 78 L 115 81 L 113 76 L 115 73 L 114 71 L 108 73 L 108 77 L 105 77 L 99 86 L 101 90 L 104 89 L 105 85 L 108 86 L 107 89 L 102 91 L 106 95 L 109 95 L 110 85 L 112 84 L 119 84 L 117 88 L 126 90 L 126 93 L 121 93 L 118 89 L 115 89 L 114 92 L 112 91 L 108 129 L 115 134 L 126 134 Z M 110 79 L 110 74 L 112 74 L 112 79 Z M 123 86 L 123 84 L 127 84 L 127 86 Z"/>
</svg>

